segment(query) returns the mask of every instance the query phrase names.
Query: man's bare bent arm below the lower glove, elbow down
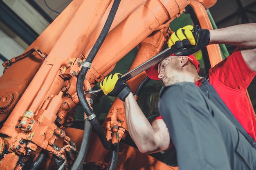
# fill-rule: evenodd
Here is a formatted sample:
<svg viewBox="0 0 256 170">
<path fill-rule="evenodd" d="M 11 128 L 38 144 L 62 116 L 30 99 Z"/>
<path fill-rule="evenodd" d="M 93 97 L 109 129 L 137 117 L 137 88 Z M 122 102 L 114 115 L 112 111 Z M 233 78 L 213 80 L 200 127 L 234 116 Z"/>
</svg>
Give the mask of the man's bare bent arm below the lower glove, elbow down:
<svg viewBox="0 0 256 170">
<path fill-rule="evenodd" d="M 140 152 L 148 154 L 159 152 L 166 150 L 172 144 L 164 121 L 158 119 L 151 125 L 132 93 L 126 97 L 124 107 L 129 134 Z"/>
</svg>

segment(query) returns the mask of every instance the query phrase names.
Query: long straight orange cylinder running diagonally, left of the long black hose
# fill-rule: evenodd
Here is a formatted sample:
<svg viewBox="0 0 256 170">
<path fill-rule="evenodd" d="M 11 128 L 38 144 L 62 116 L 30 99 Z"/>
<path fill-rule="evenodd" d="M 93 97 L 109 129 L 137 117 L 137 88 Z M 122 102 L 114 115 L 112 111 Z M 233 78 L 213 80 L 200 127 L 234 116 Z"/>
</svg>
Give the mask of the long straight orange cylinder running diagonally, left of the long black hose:
<svg viewBox="0 0 256 170">
<path fill-rule="evenodd" d="M 47 97 L 57 94 L 63 84 L 63 82 L 60 82 L 63 80 L 57 74 L 61 65 L 65 64 L 70 57 L 79 57 L 109 3 L 110 0 L 104 2 L 94 0 L 83 1 L 80 4 L 76 14 L 56 41 L 52 51 L 50 51 L 47 59 L 43 62 L 27 90 L 20 98 L 20 101 L 4 123 L 4 126 L 0 129 L 0 132 L 13 136 L 18 119 L 27 110 L 28 106 L 28 110 L 35 113 Z M 94 17 L 85 19 L 86 17 L 84 16 Z M 59 82 L 53 82 L 55 77 Z M 55 84 L 55 89 L 50 89 L 49 87 L 53 84 Z"/>
</svg>

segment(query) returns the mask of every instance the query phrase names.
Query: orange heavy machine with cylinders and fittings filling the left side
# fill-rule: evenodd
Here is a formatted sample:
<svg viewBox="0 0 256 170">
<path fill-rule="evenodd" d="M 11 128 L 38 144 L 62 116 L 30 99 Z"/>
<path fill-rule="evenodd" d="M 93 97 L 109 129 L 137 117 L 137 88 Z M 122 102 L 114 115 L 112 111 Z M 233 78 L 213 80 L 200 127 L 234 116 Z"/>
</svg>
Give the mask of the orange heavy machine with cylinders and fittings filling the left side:
<svg viewBox="0 0 256 170">
<path fill-rule="evenodd" d="M 74 121 L 74 109 L 79 105 L 77 75 L 107 20 L 113 2 L 73 0 L 23 55 L 8 63 L 0 77 L 1 170 L 21 170 L 22 163 L 35 161 L 42 150 L 47 152 L 44 169 L 54 168 L 52 155 L 65 158 L 62 150 L 54 148 L 55 144 L 64 148 L 60 140 L 67 143 L 72 139 L 79 150 L 83 130 L 68 128 L 70 121 Z M 216 0 L 121 1 L 108 35 L 86 74 L 84 91 L 91 90 L 103 80 L 136 46 L 138 52 L 130 70 L 162 51 L 170 33 L 169 24 L 180 17 L 188 5 L 194 9 L 202 28 L 213 29 L 206 9 L 215 3 Z M 207 51 L 211 66 L 222 60 L 217 45 L 207 46 Z M 145 77 L 142 72 L 128 80 L 132 91 Z M 56 119 L 59 126 L 55 124 Z M 119 141 L 111 137 L 113 125 L 119 127 Z M 124 106 L 119 99 L 113 102 L 103 127 L 112 143 L 125 137 Z M 119 145 L 116 169 L 178 169 L 142 154 L 136 148 Z M 109 152 L 97 136 L 92 135 L 85 160 L 108 165 Z"/>
</svg>

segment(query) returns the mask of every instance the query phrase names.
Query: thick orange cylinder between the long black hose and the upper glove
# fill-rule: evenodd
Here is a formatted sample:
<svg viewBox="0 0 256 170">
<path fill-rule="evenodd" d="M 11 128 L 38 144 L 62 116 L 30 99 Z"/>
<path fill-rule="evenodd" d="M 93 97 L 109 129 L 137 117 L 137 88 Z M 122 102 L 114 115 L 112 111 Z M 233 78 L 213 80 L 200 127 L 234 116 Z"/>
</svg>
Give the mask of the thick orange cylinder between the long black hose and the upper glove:
<svg viewBox="0 0 256 170">
<path fill-rule="evenodd" d="M 187 0 L 148 0 L 110 31 L 95 56 L 86 77 L 91 84 L 101 81 L 124 55 L 162 24 L 171 22 L 189 4 Z M 90 49 L 84 53 L 88 56 Z M 104 58 L 104 62 L 103 59 Z"/>
</svg>

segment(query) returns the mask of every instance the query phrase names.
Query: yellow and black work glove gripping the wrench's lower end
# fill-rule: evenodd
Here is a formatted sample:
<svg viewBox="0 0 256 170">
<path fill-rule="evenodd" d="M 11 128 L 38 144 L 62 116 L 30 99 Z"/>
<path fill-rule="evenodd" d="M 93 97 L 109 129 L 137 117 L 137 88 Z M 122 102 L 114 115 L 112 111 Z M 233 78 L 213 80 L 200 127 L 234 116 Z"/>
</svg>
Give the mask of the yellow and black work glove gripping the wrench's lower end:
<svg viewBox="0 0 256 170">
<path fill-rule="evenodd" d="M 105 95 L 115 96 L 124 101 L 131 92 L 131 89 L 129 85 L 120 78 L 121 76 L 120 73 L 110 74 L 100 82 L 100 87 Z"/>
</svg>

